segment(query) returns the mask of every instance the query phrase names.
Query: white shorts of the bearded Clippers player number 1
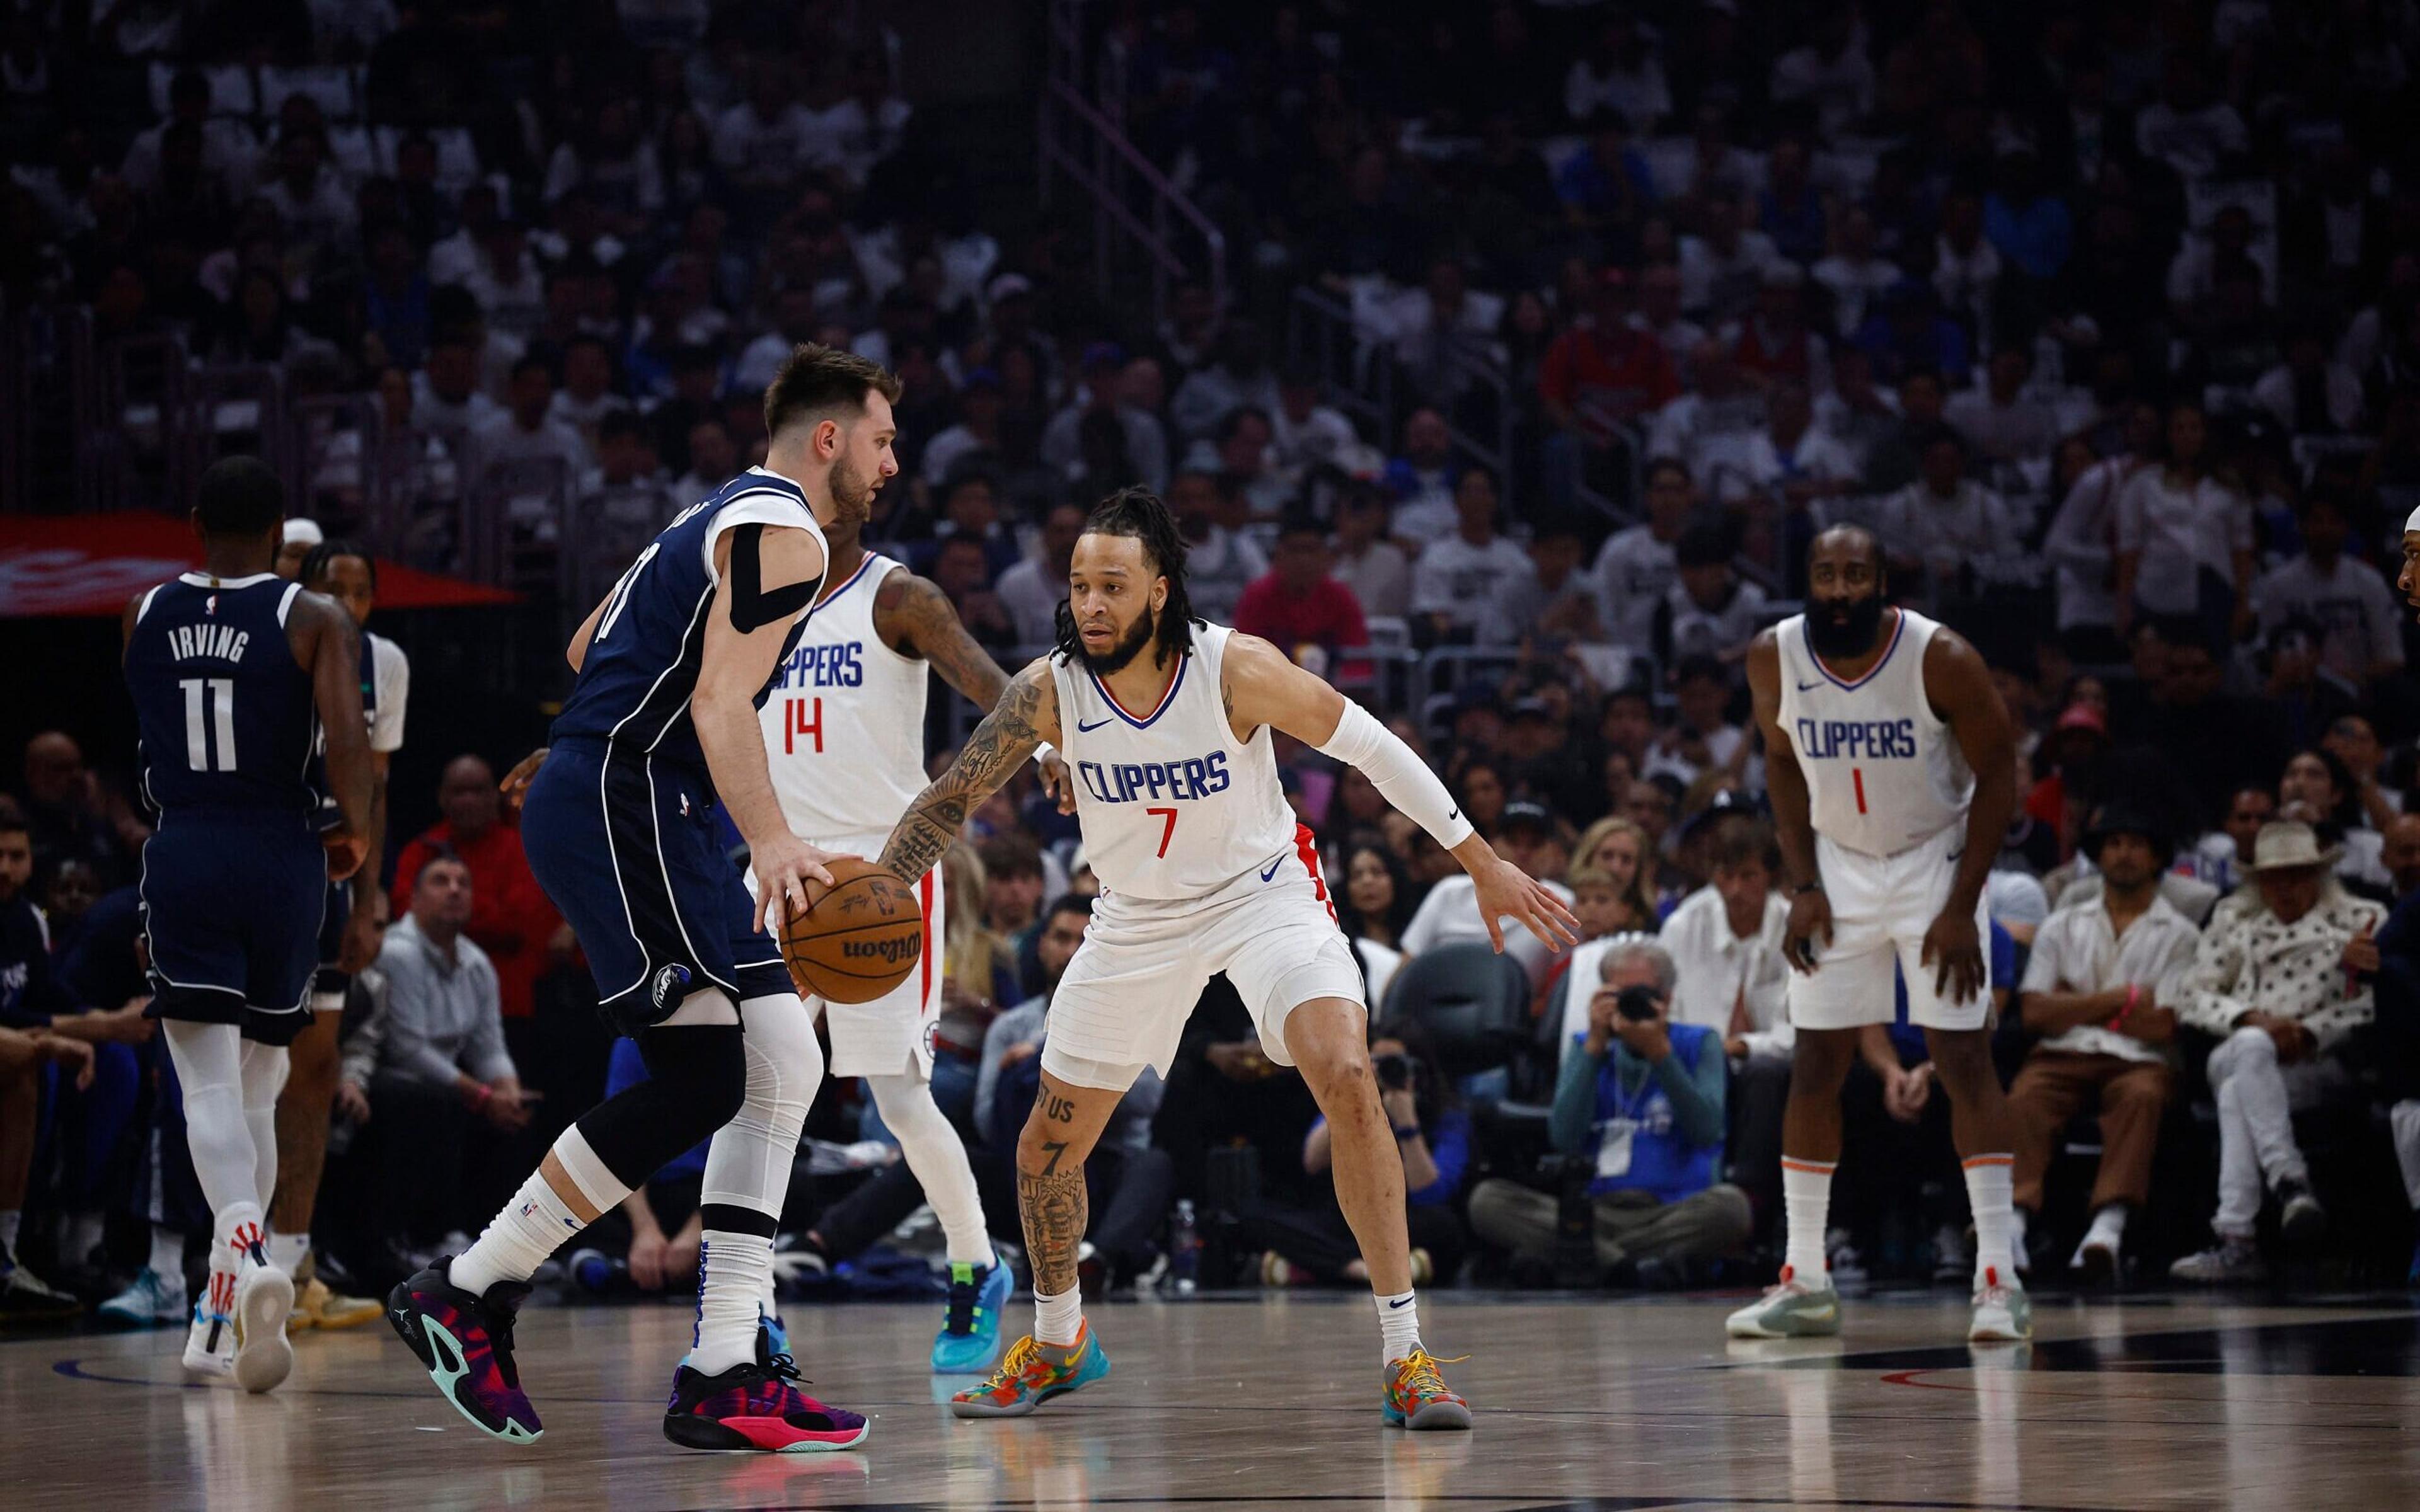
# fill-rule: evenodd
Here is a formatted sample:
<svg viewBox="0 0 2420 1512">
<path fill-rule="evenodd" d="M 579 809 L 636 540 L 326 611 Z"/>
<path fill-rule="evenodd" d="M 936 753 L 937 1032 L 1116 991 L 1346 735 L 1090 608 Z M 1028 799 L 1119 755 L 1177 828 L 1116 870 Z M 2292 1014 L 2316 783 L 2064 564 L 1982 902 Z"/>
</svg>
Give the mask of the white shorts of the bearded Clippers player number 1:
<svg viewBox="0 0 2420 1512">
<path fill-rule="evenodd" d="M 1832 943 L 1815 948 L 1815 973 L 1793 970 L 1788 1002 L 1798 1028 L 1861 1028 L 1890 1023 L 1897 1009 L 1892 968 L 1907 977 L 1907 1021 L 1924 1028 L 1982 1028 L 1992 989 L 1965 1002 L 1934 992 L 1924 965 L 1924 931 L 1941 914 L 1965 854 L 1965 825 L 1919 842 L 1897 856 L 1868 856 L 1815 837 L 1815 868 L 1832 900 Z M 1975 934 L 1992 970 L 1992 922 L 1975 905 Z"/>
</svg>

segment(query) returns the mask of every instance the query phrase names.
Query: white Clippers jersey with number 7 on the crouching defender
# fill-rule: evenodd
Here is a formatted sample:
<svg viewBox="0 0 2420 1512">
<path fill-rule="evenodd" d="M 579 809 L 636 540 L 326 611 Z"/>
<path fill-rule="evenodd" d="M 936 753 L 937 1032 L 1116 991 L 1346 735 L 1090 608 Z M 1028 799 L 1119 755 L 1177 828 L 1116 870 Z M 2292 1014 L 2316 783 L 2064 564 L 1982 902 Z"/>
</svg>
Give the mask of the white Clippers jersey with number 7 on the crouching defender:
<svg viewBox="0 0 2420 1512">
<path fill-rule="evenodd" d="M 1193 656 L 1145 714 L 1120 709 L 1082 663 L 1050 660 L 1084 856 L 1108 893 L 1205 898 L 1295 849 L 1268 726 L 1239 745 L 1220 699 L 1232 634 L 1195 627 Z"/>
</svg>

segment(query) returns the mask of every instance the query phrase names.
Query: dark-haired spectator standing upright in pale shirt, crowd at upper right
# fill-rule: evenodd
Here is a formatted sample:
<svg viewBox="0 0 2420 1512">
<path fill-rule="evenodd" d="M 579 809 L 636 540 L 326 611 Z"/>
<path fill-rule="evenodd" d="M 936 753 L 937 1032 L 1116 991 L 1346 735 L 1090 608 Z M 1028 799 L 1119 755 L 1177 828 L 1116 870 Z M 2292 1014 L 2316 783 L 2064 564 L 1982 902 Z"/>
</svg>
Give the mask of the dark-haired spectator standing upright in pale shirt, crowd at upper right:
<svg viewBox="0 0 2420 1512">
<path fill-rule="evenodd" d="M 2253 510 L 2209 477 L 2209 421 L 2190 399 L 2168 409 L 2168 455 L 2118 494 L 2118 634 L 2134 612 L 2197 614 L 2212 636 L 2251 629 Z"/>
</svg>

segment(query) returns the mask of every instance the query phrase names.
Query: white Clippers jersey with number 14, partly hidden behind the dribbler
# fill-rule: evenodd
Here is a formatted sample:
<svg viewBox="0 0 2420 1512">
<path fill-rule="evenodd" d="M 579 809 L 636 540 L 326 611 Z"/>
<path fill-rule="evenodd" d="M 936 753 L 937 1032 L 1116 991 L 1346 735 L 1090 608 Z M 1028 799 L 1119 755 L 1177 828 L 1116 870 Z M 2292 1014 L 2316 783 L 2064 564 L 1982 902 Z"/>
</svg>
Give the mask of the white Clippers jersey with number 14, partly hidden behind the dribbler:
<svg viewBox="0 0 2420 1512">
<path fill-rule="evenodd" d="M 922 658 L 874 634 L 874 593 L 900 564 L 866 552 L 774 670 L 757 719 L 789 827 L 828 849 L 881 844 L 924 791 Z"/>
</svg>

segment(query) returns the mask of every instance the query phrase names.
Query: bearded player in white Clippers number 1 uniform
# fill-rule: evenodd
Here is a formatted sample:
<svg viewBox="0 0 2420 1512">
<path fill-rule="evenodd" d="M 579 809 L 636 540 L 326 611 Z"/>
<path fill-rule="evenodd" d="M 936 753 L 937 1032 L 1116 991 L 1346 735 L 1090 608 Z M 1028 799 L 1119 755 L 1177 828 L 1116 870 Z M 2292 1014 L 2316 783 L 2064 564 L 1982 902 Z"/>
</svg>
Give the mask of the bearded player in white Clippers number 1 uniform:
<svg viewBox="0 0 2420 1512">
<path fill-rule="evenodd" d="M 2016 1147 L 1992 1069 L 1982 888 L 2016 806 L 2009 711 L 1958 634 L 1885 602 L 1883 547 L 1834 525 L 1808 547 L 1808 607 L 1762 631 L 1747 685 L 1791 888 L 1784 936 L 1798 1031 L 1781 1120 L 1781 1280 L 1733 1338 L 1839 1333 L 1825 1219 L 1839 1089 L 1859 1033 L 1890 1023 L 1892 968 L 1951 1098 L 1975 1210 L 1972 1340 L 2033 1338 L 2011 1265 Z"/>
</svg>

